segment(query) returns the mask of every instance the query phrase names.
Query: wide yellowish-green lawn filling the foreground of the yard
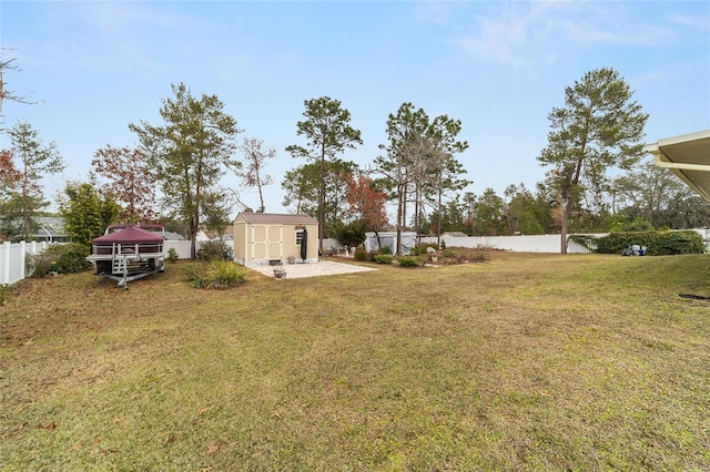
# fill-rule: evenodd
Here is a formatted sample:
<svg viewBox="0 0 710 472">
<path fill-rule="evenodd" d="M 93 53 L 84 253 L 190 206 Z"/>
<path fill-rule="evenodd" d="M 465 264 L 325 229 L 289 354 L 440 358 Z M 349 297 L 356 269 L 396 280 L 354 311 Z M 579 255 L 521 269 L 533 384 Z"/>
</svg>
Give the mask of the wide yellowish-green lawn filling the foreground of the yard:
<svg viewBox="0 0 710 472">
<path fill-rule="evenodd" d="M 710 256 L 30 279 L 0 470 L 710 470 Z"/>
</svg>

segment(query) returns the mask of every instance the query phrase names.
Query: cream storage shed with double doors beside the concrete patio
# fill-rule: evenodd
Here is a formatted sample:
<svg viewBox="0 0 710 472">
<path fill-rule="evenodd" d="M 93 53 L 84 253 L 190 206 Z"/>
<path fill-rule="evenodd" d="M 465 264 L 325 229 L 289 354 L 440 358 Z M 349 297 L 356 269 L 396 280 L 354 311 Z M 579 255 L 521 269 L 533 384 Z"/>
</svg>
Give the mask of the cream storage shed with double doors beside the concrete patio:
<svg viewBox="0 0 710 472">
<path fill-rule="evenodd" d="M 307 215 L 240 213 L 234 219 L 234 261 L 244 266 L 317 263 L 318 222 Z"/>
</svg>

